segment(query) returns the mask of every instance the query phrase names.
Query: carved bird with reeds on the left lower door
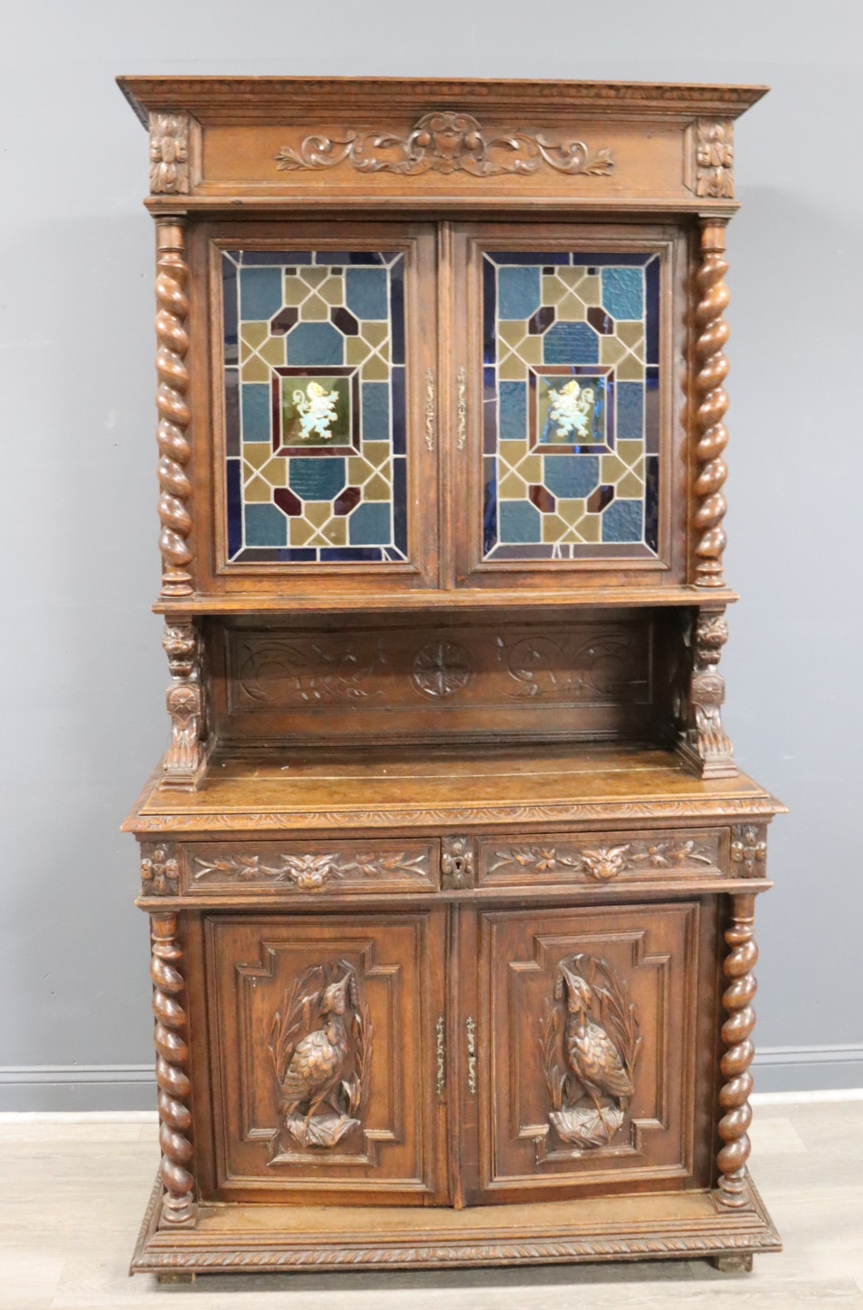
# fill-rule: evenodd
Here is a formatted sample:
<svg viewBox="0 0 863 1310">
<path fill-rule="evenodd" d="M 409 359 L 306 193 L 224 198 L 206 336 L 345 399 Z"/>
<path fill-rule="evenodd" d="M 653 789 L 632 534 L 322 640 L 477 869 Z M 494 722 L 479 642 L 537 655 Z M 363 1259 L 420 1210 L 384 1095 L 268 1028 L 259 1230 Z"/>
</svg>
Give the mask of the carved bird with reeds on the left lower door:
<svg viewBox="0 0 863 1310">
<path fill-rule="evenodd" d="M 315 964 L 285 993 L 268 1047 L 281 1120 L 270 1165 L 296 1158 L 298 1148 L 328 1150 L 359 1128 L 372 1034 L 348 960 Z"/>
</svg>

